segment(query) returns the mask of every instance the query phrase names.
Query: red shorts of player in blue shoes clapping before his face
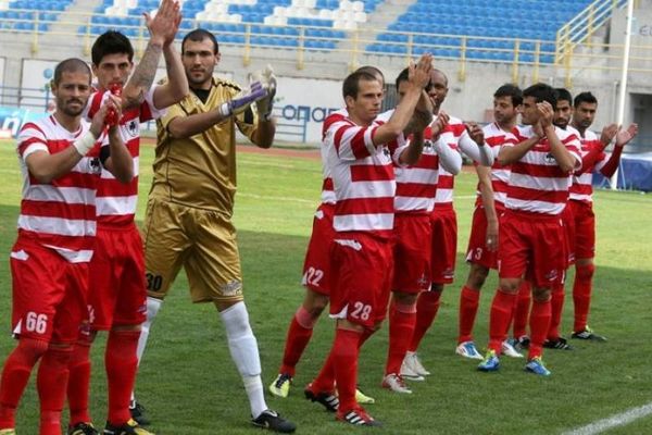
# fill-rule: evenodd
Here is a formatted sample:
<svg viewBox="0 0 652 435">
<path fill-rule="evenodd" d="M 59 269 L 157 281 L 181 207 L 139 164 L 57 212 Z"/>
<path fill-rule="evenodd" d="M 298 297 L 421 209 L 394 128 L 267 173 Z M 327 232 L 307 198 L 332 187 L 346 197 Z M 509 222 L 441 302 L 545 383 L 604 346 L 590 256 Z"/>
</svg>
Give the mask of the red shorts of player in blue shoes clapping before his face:
<svg viewBox="0 0 652 435">
<path fill-rule="evenodd" d="M 551 288 L 563 282 L 566 266 L 561 216 L 538 216 L 507 210 L 500 222 L 498 273 L 501 278 L 526 277 Z"/>
</svg>

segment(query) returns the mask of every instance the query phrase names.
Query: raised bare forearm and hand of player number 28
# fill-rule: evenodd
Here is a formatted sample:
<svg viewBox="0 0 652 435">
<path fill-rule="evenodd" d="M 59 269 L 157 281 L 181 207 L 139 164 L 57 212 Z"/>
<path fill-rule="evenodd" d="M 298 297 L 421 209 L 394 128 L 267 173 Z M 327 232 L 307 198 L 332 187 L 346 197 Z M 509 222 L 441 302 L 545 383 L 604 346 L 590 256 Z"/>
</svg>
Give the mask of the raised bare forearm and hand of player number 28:
<svg viewBox="0 0 652 435">
<path fill-rule="evenodd" d="M 422 90 L 430 80 L 431 70 L 431 54 L 424 54 L 416 64 L 412 63 L 410 65 L 410 78 L 408 79 L 409 85 L 405 96 L 401 100 L 401 103 L 397 105 L 389 121 L 376 130 L 376 135 L 373 138 L 374 145 L 387 144 L 403 133 L 422 96 Z"/>
</svg>

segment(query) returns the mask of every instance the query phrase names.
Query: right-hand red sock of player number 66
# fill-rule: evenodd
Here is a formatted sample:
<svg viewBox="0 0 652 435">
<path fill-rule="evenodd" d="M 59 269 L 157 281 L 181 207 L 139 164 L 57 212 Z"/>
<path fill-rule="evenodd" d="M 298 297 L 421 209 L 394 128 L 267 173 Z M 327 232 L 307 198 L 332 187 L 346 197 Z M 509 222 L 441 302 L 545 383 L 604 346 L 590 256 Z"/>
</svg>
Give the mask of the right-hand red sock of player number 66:
<svg viewBox="0 0 652 435">
<path fill-rule="evenodd" d="M 61 435 L 68 363 L 73 348 L 50 347 L 38 366 L 36 388 L 40 400 L 40 435 Z"/>
</svg>

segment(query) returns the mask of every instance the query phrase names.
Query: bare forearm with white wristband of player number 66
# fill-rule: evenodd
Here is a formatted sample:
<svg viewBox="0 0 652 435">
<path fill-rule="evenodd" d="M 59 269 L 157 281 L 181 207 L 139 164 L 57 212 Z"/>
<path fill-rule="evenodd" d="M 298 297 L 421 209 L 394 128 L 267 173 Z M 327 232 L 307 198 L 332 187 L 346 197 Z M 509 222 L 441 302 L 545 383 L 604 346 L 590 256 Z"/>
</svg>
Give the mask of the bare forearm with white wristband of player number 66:
<svg viewBox="0 0 652 435">
<path fill-rule="evenodd" d="M 98 137 L 104 128 L 104 116 L 110 104 L 103 104 L 92 117 L 90 129 L 84 136 L 67 147 L 53 154 L 48 151 L 36 151 L 27 156 L 25 164 L 29 173 L 39 183 L 50 183 L 71 172 L 84 156 L 95 146 Z"/>
</svg>

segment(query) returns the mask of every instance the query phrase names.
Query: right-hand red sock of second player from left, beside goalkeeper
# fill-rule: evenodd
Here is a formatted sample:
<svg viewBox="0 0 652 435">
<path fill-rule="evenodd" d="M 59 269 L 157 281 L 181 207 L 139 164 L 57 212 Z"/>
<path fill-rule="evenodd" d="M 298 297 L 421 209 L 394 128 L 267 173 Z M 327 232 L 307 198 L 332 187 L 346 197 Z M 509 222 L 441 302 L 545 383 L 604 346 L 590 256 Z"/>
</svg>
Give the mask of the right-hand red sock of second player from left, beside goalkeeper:
<svg viewBox="0 0 652 435">
<path fill-rule="evenodd" d="M 136 382 L 136 348 L 140 331 L 111 331 L 106 340 L 104 365 L 109 385 L 109 422 L 122 425 L 129 421 L 129 401 Z"/>
</svg>

